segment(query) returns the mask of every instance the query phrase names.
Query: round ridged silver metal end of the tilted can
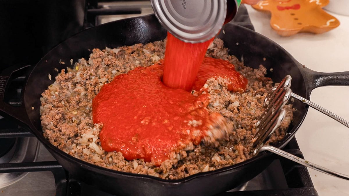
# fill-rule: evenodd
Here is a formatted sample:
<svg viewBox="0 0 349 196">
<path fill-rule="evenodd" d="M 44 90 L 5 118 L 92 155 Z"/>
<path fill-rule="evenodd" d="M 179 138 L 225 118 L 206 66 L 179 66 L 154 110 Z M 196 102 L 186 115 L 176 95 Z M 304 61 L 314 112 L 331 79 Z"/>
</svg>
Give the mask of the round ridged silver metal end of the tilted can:
<svg viewBox="0 0 349 196">
<path fill-rule="evenodd" d="M 151 0 L 151 6 L 166 30 L 188 43 L 216 36 L 227 15 L 227 0 Z"/>
</svg>

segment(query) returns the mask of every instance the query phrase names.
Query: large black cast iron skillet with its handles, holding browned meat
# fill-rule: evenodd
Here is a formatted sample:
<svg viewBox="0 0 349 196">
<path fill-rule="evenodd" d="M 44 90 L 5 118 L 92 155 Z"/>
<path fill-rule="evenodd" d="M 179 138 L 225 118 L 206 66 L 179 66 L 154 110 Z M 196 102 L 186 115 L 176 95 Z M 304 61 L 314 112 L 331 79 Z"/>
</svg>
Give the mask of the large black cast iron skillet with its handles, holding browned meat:
<svg viewBox="0 0 349 196">
<path fill-rule="evenodd" d="M 310 98 L 310 92 L 319 86 L 349 85 L 349 72 L 319 73 L 312 71 L 268 38 L 244 27 L 227 24 L 225 34 L 218 35 L 224 40 L 229 53 L 239 59 L 243 56 L 245 65 L 257 68 L 260 64 L 267 70 L 267 76 L 280 82 L 285 75 L 292 76 L 291 89 L 298 95 Z M 42 135 L 40 125 L 40 94 L 53 83 L 58 72 L 70 66 L 70 59 L 88 58 L 92 48 L 113 48 L 136 43 L 149 43 L 166 37 L 166 31 L 154 15 L 115 21 L 88 29 L 65 40 L 53 48 L 32 68 L 22 91 L 22 105 L 10 106 L 4 100 L 6 87 L 12 78 L 28 68 L 12 67 L 0 76 L 0 110 L 28 126 L 34 135 L 52 153 L 58 162 L 78 180 L 91 184 L 111 194 L 121 195 L 213 195 L 238 186 L 259 174 L 271 162 L 271 153 L 260 153 L 257 157 L 216 171 L 199 173 L 180 180 L 161 180 L 152 176 L 112 171 L 85 163 L 69 156 L 48 142 Z M 238 44 L 237 44 L 238 43 Z M 266 60 L 264 61 L 263 58 Z M 59 63 L 61 61 L 65 64 Z M 316 60 L 316 59 L 314 59 Z M 52 76 L 49 80 L 48 75 Z M 34 107 L 34 110 L 32 109 Z M 295 135 L 307 113 L 308 107 L 294 102 L 297 108 L 294 120 L 285 138 L 275 146 L 283 148 Z"/>
</svg>

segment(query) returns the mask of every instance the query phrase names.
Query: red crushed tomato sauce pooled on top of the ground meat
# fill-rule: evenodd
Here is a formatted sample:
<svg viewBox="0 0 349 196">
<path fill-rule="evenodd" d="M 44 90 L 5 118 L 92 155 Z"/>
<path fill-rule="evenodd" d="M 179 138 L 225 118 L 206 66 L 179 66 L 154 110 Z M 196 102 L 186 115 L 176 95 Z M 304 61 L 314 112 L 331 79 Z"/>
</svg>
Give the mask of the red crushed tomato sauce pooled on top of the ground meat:
<svg viewBox="0 0 349 196">
<path fill-rule="evenodd" d="M 115 76 L 92 100 L 94 123 L 103 123 L 103 150 L 125 159 L 144 159 L 156 166 L 189 143 L 198 145 L 218 113 L 209 113 L 209 94 L 195 97 L 162 83 L 163 60 Z M 230 80 L 232 91 L 243 91 L 247 80 L 228 61 L 205 58 L 194 84 L 200 90 L 210 77 Z M 200 87 L 201 86 L 201 87 Z M 200 122 L 200 123 L 191 123 Z"/>
</svg>

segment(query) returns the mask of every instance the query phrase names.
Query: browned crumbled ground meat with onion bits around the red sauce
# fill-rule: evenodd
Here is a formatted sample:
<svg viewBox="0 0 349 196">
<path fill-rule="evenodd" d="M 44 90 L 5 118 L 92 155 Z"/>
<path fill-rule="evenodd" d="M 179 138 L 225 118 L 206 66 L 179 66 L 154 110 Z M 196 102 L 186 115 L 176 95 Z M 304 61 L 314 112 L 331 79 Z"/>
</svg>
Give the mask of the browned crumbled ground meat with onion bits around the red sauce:
<svg viewBox="0 0 349 196">
<path fill-rule="evenodd" d="M 105 152 L 99 141 L 101 124 L 92 122 L 92 99 L 103 84 L 136 67 L 150 66 L 164 58 L 166 40 L 119 48 L 93 49 L 90 58 L 80 59 L 74 68 L 61 70 L 55 82 L 42 93 L 41 124 L 43 135 L 53 145 L 78 159 L 117 171 L 148 174 L 162 179 L 180 179 L 245 161 L 252 156 L 254 123 L 262 113 L 262 101 L 274 87 L 265 77 L 266 68 L 245 67 L 228 54 L 223 41 L 215 39 L 206 56 L 228 60 L 248 80 L 244 93 L 227 90 L 224 78 L 210 78 L 202 88 L 210 94 L 209 111 L 219 112 L 233 126 L 229 141 L 216 148 L 198 145 L 164 161 L 160 167 L 142 159 L 127 161 L 120 152 Z M 199 92 L 192 91 L 194 96 Z M 281 140 L 292 118 L 291 104 L 285 105 L 286 117 L 268 142 Z"/>
</svg>

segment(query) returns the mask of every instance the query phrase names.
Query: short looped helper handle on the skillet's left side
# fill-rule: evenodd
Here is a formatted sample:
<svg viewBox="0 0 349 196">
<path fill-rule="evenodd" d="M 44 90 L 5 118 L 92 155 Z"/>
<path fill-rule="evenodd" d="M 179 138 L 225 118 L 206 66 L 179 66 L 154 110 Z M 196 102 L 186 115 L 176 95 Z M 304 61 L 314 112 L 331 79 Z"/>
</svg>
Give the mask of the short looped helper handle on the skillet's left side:
<svg viewBox="0 0 349 196">
<path fill-rule="evenodd" d="M 21 93 L 21 106 L 15 107 L 7 103 L 5 100 L 5 94 L 8 90 L 8 86 L 10 82 L 19 77 L 22 76 L 24 73 L 28 74 L 28 70 L 31 66 L 30 65 L 15 65 L 11 66 L 9 68 L 6 68 L 2 71 L 0 74 L 0 113 L 1 116 L 7 117 L 7 118 L 14 118 L 18 121 L 20 121 L 22 124 L 30 128 L 31 122 L 29 120 L 27 111 L 25 110 L 24 105 L 24 93 Z M 27 77 L 26 74 L 26 77 Z"/>
</svg>

